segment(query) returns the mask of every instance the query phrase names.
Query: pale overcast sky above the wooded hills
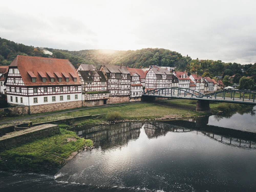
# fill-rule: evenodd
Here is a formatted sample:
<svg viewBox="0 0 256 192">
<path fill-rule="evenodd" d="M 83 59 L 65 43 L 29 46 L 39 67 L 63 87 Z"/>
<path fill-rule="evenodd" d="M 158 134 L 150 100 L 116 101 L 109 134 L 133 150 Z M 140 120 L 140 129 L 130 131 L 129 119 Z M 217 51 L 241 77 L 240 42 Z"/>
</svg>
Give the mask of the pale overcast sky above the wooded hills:
<svg viewBox="0 0 256 192">
<path fill-rule="evenodd" d="M 3 1 L 0 37 L 68 50 L 165 48 L 256 62 L 256 1 Z"/>
</svg>

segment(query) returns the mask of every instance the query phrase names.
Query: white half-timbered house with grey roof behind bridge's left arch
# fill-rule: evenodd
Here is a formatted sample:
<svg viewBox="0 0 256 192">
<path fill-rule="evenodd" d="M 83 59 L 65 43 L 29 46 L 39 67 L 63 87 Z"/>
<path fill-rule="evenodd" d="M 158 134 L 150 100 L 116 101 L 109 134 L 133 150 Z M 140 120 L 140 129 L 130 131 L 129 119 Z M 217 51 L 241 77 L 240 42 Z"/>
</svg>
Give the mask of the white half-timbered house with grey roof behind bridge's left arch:
<svg viewBox="0 0 256 192">
<path fill-rule="evenodd" d="M 167 69 L 150 68 L 146 72 L 145 92 L 158 88 L 171 88 L 172 81 L 177 82 L 176 78 Z"/>
</svg>

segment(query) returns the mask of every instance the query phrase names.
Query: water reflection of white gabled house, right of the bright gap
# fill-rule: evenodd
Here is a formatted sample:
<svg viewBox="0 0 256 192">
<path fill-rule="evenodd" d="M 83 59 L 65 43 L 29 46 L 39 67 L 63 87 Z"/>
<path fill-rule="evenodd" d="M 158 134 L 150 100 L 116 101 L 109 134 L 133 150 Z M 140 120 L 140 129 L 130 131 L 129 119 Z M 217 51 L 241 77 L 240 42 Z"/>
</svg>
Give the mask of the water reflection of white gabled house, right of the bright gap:
<svg viewBox="0 0 256 192">
<path fill-rule="evenodd" d="M 191 129 L 185 127 L 167 124 L 164 122 L 145 122 L 144 130 L 148 138 L 158 137 L 160 135 L 165 135 L 167 132 L 189 132 Z"/>
</svg>

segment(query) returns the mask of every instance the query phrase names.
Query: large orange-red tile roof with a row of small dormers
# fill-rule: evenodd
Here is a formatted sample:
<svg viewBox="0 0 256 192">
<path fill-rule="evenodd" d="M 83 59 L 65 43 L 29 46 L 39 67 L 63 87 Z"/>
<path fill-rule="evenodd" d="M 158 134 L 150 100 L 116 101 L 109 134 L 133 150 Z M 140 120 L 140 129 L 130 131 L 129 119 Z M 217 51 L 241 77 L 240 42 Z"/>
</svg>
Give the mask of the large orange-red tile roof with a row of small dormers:
<svg viewBox="0 0 256 192">
<path fill-rule="evenodd" d="M 45 57 L 31 57 L 18 55 L 9 66 L 18 67 L 22 80 L 26 86 L 41 86 L 41 85 L 81 85 L 80 78 L 76 72 L 74 66 L 67 59 L 55 59 Z M 31 72 L 30 75 L 28 72 Z M 41 75 L 39 74 L 41 73 Z M 72 73 L 77 78 L 77 82 L 73 81 L 73 78 L 69 79 L 69 82 L 59 82 L 55 79 L 51 82 L 50 79 L 46 79 L 46 82 L 42 82 L 41 76 L 45 75 L 46 78 L 62 77 L 61 73 L 70 74 Z M 54 75 L 55 74 L 55 75 Z M 36 82 L 32 82 L 31 76 L 36 77 Z M 71 76 L 70 76 L 71 77 Z"/>
</svg>

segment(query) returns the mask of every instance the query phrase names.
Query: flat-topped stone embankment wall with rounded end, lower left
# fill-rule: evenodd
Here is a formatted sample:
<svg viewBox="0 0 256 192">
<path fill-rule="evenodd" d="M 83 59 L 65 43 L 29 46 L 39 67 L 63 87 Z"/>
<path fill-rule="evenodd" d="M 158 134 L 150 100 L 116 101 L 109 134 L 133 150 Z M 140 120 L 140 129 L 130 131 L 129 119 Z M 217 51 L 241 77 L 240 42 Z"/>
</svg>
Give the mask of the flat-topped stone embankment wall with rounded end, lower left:
<svg viewBox="0 0 256 192">
<path fill-rule="evenodd" d="M 40 138 L 50 137 L 60 132 L 58 125 L 44 124 L 29 129 L 11 132 L 0 137 L 0 149 L 16 147 Z"/>
</svg>

